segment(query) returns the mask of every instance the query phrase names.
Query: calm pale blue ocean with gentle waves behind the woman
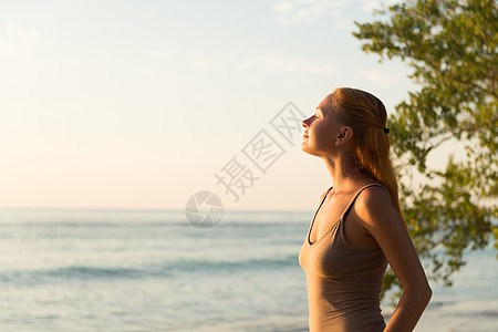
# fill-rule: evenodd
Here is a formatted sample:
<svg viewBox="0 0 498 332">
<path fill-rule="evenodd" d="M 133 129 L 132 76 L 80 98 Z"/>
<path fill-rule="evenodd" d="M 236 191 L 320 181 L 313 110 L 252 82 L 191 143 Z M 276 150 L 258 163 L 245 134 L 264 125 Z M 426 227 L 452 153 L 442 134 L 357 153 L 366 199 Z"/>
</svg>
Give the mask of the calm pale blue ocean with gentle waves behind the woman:
<svg viewBox="0 0 498 332">
<path fill-rule="evenodd" d="M 0 331 L 308 331 L 314 211 L 0 210 Z M 432 284 L 415 331 L 498 331 L 496 250 Z M 386 318 L 392 312 L 383 303 Z"/>
</svg>

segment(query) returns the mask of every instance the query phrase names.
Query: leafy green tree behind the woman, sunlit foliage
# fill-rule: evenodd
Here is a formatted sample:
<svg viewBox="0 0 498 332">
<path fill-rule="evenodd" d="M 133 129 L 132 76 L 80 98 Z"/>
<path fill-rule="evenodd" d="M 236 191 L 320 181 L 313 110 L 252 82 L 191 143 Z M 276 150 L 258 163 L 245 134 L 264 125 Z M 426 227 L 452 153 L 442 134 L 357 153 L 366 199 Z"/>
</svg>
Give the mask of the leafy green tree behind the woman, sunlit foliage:
<svg viewBox="0 0 498 332">
<path fill-rule="evenodd" d="M 419 91 L 390 116 L 391 139 L 408 231 L 428 278 L 452 286 L 464 249 L 481 249 L 495 234 L 497 185 L 497 4 L 490 0 L 418 0 L 376 11 L 353 35 L 380 61 L 407 63 Z M 444 142 L 461 154 L 445 170 L 426 160 Z M 424 181 L 415 186 L 414 174 Z M 495 222 L 495 224 L 494 224 Z M 384 291 L 398 286 L 387 271 Z M 397 293 L 398 294 L 398 293 Z"/>
</svg>

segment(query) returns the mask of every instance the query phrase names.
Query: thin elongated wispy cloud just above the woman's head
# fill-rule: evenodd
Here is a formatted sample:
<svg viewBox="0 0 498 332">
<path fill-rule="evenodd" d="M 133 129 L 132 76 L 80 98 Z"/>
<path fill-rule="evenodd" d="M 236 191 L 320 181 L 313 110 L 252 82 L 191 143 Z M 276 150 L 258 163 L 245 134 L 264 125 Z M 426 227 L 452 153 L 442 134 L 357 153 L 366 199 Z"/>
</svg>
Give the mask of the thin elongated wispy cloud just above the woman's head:
<svg viewBox="0 0 498 332">
<path fill-rule="evenodd" d="M 299 59 L 283 58 L 279 55 L 261 55 L 246 59 L 239 65 L 240 70 L 261 68 L 271 71 L 289 73 L 302 72 L 310 74 L 338 74 L 339 68 L 333 63 L 320 64 Z"/>
</svg>

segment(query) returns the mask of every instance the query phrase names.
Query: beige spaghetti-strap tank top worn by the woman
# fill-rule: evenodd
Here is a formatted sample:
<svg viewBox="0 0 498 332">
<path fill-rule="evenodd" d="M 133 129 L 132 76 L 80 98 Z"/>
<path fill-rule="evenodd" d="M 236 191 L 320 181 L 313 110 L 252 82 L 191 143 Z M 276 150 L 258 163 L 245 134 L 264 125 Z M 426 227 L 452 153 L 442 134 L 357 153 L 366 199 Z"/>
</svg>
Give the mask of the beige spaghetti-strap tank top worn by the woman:
<svg viewBox="0 0 498 332">
<path fill-rule="evenodd" d="M 354 247 L 344 236 L 347 211 L 360 193 L 371 186 L 382 187 L 371 184 L 361 188 L 339 220 L 311 243 L 310 234 L 314 219 L 332 187 L 314 214 L 307 239 L 299 251 L 299 263 L 308 282 L 310 332 L 377 332 L 385 328 L 380 308 L 380 294 L 387 267 L 384 253 L 382 249 L 363 250 Z"/>
</svg>

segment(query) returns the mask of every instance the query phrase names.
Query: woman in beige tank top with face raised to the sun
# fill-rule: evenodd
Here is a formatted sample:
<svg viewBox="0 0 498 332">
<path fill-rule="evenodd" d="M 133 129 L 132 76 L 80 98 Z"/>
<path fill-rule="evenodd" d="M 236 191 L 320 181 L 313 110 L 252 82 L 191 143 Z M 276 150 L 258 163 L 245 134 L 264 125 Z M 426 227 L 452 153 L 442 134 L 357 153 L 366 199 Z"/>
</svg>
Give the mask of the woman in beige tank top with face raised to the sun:
<svg viewBox="0 0 498 332">
<path fill-rule="evenodd" d="M 406 230 L 390 160 L 383 103 L 336 89 L 302 122 L 301 148 L 332 177 L 299 263 L 307 274 L 310 331 L 412 331 L 432 290 Z M 380 294 L 387 263 L 403 295 L 386 325 Z"/>
</svg>

